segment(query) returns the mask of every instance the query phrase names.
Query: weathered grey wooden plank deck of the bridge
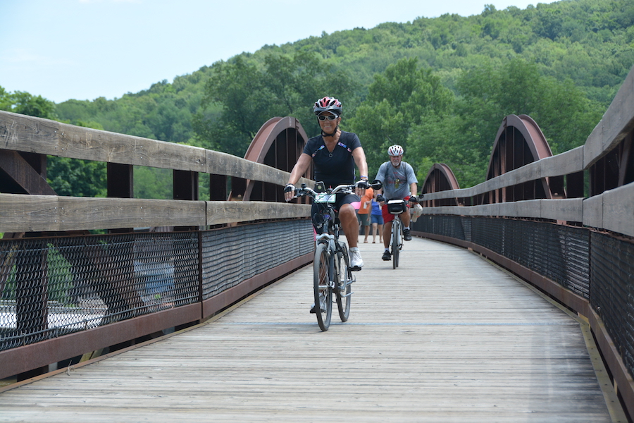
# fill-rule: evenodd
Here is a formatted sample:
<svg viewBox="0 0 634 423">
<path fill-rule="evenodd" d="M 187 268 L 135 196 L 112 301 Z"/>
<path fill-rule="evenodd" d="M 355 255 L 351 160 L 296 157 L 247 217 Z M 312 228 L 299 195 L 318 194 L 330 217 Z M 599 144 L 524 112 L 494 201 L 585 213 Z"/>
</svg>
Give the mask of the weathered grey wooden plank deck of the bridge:
<svg viewBox="0 0 634 423">
<path fill-rule="evenodd" d="M 430 240 L 397 270 L 361 251 L 346 324 L 335 311 L 319 331 L 308 266 L 219 319 L 0 393 L 0 421 L 626 421 L 588 327 L 513 276 Z"/>
</svg>

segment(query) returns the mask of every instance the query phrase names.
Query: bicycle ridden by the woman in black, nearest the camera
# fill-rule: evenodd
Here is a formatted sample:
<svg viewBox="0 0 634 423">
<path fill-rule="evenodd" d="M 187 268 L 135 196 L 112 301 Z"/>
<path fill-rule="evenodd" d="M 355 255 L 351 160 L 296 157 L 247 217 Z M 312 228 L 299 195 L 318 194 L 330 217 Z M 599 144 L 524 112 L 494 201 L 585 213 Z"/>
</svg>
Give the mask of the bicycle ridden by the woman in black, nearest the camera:
<svg viewBox="0 0 634 423">
<path fill-rule="evenodd" d="M 316 186 L 320 183 L 316 183 Z M 322 184 L 323 185 L 323 184 Z M 380 183 L 372 183 L 372 188 L 380 189 Z M 316 238 L 315 258 L 313 260 L 313 295 L 317 323 L 322 331 L 328 331 L 332 317 L 332 293 L 335 293 L 337 309 L 341 321 L 347 321 L 350 315 L 352 283 L 356 277 L 350 269 L 350 257 L 347 246 L 339 240 L 341 230 L 338 211 L 333 207 L 337 193 L 352 194 L 355 185 L 338 185 L 325 192 L 315 192 L 311 188 L 296 188 L 295 197 L 308 195 L 318 204 L 319 212 L 313 216 L 313 223 L 321 228 Z"/>
</svg>

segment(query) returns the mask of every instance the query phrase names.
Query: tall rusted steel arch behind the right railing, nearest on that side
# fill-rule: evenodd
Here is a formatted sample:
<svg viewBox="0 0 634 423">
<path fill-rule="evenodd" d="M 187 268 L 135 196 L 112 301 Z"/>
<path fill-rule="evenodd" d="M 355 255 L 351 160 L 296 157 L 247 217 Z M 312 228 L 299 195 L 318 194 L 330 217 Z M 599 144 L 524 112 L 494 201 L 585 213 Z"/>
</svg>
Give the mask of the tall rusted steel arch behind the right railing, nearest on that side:
<svg viewBox="0 0 634 423">
<path fill-rule="evenodd" d="M 487 180 L 551 156 L 552 150 L 546 137 L 530 116 L 506 116 L 495 136 L 487 168 Z M 563 177 L 542 178 L 489 192 L 476 199 L 476 203 L 490 204 L 565 197 Z"/>
</svg>

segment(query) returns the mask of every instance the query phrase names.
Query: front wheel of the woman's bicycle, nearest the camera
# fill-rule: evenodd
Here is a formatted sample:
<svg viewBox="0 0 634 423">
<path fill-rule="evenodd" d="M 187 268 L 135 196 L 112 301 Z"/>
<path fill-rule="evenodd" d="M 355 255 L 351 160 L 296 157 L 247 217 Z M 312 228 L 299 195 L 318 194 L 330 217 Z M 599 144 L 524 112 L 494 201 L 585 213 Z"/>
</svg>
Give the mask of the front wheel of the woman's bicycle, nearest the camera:
<svg viewBox="0 0 634 423">
<path fill-rule="evenodd" d="M 315 251 L 313 261 L 313 293 L 315 295 L 315 311 L 317 323 L 322 331 L 328 331 L 332 316 L 332 287 L 330 274 L 334 272 L 328 257 L 328 247 L 320 243 Z"/>
</svg>

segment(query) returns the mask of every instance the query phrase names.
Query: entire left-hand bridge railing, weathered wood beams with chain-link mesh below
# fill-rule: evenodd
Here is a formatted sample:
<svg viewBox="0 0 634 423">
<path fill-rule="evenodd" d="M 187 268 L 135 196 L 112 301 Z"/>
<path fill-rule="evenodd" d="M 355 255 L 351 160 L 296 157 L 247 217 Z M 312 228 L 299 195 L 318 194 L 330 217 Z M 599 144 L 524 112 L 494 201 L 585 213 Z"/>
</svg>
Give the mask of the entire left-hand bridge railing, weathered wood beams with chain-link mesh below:
<svg viewBox="0 0 634 423">
<path fill-rule="evenodd" d="M 106 162 L 108 197 L 38 195 L 46 155 Z M 30 193 L 0 192 L 0 232 L 26 235 L 0 240 L 0 379 L 195 324 L 312 259 L 310 206 L 221 201 L 228 178 L 285 185 L 270 166 L 1 111 L 0 160 Z M 172 169 L 176 200 L 131 198 L 133 166 Z M 180 231 L 133 229 L 159 226 Z"/>
</svg>

